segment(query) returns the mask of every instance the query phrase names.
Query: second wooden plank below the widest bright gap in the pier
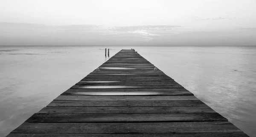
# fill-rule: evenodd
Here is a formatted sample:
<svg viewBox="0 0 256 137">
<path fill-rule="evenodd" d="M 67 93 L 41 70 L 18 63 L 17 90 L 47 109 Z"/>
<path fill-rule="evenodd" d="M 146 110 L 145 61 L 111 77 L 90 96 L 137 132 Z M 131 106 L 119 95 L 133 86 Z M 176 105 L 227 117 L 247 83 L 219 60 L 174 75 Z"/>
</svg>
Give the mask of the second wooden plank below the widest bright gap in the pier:
<svg viewBox="0 0 256 137">
<path fill-rule="evenodd" d="M 200 100 L 53 100 L 48 106 L 204 106 Z"/>
</svg>

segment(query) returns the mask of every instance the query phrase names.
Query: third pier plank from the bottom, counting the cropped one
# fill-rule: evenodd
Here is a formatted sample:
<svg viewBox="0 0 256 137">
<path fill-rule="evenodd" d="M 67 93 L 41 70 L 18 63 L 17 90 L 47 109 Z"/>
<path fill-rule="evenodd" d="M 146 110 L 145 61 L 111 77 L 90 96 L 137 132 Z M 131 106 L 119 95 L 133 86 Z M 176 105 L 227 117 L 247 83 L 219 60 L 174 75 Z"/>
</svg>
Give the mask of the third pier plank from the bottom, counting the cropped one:
<svg viewBox="0 0 256 137">
<path fill-rule="evenodd" d="M 29 123 L 117 123 L 117 122 L 202 122 L 227 121 L 218 113 L 35 113 L 26 122 Z"/>
</svg>

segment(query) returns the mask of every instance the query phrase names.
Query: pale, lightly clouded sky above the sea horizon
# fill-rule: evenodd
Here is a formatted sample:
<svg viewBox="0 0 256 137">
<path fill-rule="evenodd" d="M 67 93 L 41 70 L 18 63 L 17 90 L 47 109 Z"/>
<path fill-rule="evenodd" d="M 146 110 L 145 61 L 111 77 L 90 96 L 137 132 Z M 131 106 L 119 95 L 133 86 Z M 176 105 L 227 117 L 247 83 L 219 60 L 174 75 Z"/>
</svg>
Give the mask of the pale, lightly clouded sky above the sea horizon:
<svg viewBox="0 0 256 137">
<path fill-rule="evenodd" d="M 256 46 L 256 0 L 0 0 L 0 46 Z"/>
</svg>

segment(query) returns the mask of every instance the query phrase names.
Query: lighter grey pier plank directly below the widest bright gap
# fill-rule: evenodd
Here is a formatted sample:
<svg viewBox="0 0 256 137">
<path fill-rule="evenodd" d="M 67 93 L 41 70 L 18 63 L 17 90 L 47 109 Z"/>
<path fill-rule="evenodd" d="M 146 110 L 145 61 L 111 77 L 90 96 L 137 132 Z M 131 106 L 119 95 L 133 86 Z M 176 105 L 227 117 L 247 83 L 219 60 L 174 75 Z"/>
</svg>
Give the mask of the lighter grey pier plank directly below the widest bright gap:
<svg viewBox="0 0 256 137">
<path fill-rule="evenodd" d="M 195 96 L 65 96 L 55 100 L 199 100 Z"/>
</svg>

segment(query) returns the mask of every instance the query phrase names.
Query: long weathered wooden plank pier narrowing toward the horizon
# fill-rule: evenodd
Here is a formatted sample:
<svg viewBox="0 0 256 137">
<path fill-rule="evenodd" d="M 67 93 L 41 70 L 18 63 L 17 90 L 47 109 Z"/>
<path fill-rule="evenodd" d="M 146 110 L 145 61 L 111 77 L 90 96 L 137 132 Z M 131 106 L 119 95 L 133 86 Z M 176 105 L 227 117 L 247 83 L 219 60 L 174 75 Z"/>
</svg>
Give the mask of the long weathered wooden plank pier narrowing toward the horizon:
<svg viewBox="0 0 256 137">
<path fill-rule="evenodd" d="M 7 137 L 248 137 L 134 50 L 121 50 Z"/>
</svg>

